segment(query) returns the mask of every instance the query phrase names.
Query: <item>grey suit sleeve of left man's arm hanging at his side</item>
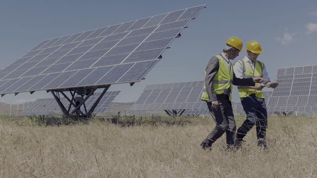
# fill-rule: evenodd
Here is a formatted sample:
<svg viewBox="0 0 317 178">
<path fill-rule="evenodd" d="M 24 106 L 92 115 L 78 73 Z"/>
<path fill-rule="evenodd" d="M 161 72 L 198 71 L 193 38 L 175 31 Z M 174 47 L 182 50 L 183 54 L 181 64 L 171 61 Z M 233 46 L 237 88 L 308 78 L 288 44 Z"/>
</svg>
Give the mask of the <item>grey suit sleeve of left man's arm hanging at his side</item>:
<svg viewBox="0 0 317 178">
<path fill-rule="evenodd" d="M 219 69 L 219 61 L 216 56 L 211 57 L 208 62 L 207 69 L 206 69 L 206 76 L 205 76 L 205 85 L 206 91 L 208 93 L 209 102 L 217 101 L 216 92 L 213 89 L 213 78 L 218 72 Z"/>
</svg>

